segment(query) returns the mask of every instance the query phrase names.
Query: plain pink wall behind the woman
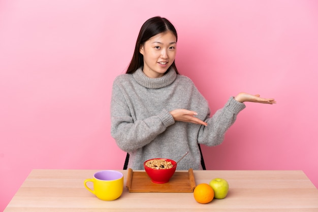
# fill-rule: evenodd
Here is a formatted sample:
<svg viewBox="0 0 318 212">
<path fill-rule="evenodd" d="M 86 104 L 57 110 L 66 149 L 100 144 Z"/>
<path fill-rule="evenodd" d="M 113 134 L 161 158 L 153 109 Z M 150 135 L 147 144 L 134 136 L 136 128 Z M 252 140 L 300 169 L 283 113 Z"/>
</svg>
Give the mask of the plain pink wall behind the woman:
<svg viewBox="0 0 318 212">
<path fill-rule="evenodd" d="M 203 147 L 207 168 L 301 169 L 318 187 L 317 1 L 2 0 L 0 211 L 32 169 L 122 169 L 112 81 L 156 15 L 212 112 L 240 91 L 277 100 L 246 103 L 224 143 Z"/>
</svg>

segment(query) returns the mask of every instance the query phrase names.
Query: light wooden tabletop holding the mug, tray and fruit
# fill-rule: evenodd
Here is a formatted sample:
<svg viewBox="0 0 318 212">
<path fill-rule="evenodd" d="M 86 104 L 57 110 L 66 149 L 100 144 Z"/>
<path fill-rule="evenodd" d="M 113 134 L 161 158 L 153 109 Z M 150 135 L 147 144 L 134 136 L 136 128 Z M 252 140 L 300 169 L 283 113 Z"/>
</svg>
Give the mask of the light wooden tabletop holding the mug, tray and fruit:
<svg viewBox="0 0 318 212">
<path fill-rule="evenodd" d="M 318 190 L 303 171 L 200 170 L 196 184 L 224 178 L 225 199 L 197 203 L 193 193 L 130 193 L 102 201 L 83 182 L 98 170 L 33 170 L 8 204 L 9 211 L 318 211 Z M 127 171 L 120 170 L 126 178 Z M 125 179 L 124 179 L 125 184 Z"/>
</svg>

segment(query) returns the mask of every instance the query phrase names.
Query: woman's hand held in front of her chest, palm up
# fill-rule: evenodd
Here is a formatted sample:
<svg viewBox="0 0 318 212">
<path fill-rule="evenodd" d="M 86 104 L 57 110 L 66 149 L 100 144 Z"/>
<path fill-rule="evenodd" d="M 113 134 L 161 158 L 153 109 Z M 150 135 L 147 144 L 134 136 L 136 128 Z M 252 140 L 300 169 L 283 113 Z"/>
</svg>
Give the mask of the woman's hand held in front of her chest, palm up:
<svg viewBox="0 0 318 212">
<path fill-rule="evenodd" d="M 188 111 L 185 109 L 176 109 L 173 111 L 170 111 L 170 114 L 172 115 L 173 119 L 175 121 L 183 121 L 183 122 L 190 122 L 194 124 L 202 124 L 204 126 L 207 126 L 208 124 L 200 119 L 198 119 L 198 114 L 195 111 Z"/>
</svg>

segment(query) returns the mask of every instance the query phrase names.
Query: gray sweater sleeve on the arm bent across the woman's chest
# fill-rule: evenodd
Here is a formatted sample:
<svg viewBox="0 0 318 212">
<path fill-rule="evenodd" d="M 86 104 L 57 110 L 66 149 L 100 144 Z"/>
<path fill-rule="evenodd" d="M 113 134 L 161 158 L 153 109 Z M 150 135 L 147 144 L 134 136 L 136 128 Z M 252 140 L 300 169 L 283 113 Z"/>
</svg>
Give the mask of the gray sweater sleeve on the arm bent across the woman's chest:
<svg viewBox="0 0 318 212">
<path fill-rule="evenodd" d="M 167 110 L 154 116 L 136 119 L 132 104 L 119 86 L 113 85 L 111 98 L 111 135 L 125 152 L 135 151 L 149 144 L 158 134 L 175 123 Z"/>
</svg>

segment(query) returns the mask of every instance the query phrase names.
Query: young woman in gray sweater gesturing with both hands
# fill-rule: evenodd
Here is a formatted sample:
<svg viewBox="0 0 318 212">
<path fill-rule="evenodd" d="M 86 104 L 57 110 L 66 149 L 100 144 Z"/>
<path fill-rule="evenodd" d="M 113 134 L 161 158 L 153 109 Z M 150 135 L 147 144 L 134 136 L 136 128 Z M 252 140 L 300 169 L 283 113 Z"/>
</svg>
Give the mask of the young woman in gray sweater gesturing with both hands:
<svg viewBox="0 0 318 212">
<path fill-rule="evenodd" d="M 166 18 L 141 27 L 126 74 L 113 83 L 111 135 L 130 154 L 128 167 L 143 169 L 151 158 L 178 160 L 177 168 L 202 169 L 198 144 L 222 143 L 227 129 L 245 108 L 244 101 L 273 104 L 272 98 L 239 93 L 210 117 L 207 100 L 175 65 L 177 32 Z"/>
</svg>

